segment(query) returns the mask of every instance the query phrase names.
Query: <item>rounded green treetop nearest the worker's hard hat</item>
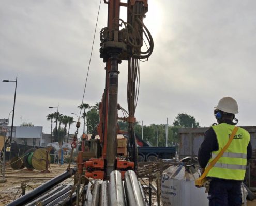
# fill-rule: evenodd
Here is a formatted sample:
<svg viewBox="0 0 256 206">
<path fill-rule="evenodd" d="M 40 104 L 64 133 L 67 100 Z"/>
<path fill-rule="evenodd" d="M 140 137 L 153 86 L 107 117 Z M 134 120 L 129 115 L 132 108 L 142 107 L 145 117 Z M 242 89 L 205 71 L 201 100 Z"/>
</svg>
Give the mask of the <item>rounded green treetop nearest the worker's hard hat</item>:
<svg viewBox="0 0 256 206">
<path fill-rule="evenodd" d="M 186 113 L 180 113 L 176 116 L 173 125 L 176 127 L 199 127 L 199 122 Z"/>
</svg>

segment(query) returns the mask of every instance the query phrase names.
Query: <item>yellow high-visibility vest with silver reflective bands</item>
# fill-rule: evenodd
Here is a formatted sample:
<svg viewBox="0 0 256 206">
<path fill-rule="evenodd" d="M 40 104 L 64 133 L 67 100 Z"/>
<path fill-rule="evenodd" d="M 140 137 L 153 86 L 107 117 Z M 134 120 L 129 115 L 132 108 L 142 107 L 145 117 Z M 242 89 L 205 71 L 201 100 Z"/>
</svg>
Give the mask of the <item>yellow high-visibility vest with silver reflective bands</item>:
<svg viewBox="0 0 256 206">
<path fill-rule="evenodd" d="M 227 144 L 234 127 L 234 125 L 227 123 L 212 126 L 217 136 L 219 149 L 212 152 L 212 157 L 208 161 L 207 166 Z M 210 169 L 207 177 L 216 177 L 228 180 L 244 180 L 247 164 L 247 146 L 249 142 L 249 132 L 239 127 L 230 146 L 216 162 L 213 168 Z"/>
</svg>

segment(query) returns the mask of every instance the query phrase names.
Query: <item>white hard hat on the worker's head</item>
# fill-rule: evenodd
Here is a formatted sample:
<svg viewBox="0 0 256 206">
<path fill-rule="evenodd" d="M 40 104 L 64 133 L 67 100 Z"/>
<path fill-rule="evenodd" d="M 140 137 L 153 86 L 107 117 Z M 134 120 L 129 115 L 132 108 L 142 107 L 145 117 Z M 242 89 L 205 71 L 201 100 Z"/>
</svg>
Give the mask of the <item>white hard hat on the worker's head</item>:
<svg viewBox="0 0 256 206">
<path fill-rule="evenodd" d="M 219 103 L 215 109 L 221 110 L 223 112 L 237 114 L 238 113 L 238 105 L 235 99 L 231 97 L 223 97 L 219 100 Z"/>
</svg>

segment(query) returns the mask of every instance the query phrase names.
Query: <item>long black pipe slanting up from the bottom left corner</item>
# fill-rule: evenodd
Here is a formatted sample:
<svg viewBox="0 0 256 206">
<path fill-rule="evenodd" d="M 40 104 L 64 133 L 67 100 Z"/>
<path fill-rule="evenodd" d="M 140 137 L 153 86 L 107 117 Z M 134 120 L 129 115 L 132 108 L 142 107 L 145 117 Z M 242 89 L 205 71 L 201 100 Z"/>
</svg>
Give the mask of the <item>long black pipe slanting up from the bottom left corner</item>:
<svg viewBox="0 0 256 206">
<path fill-rule="evenodd" d="M 48 191 L 50 188 L 54 187 L 58 183 L 70 178 L 74 173 L 76 173 L 77 168 L 73 168 L 67 171 L 64 171 L 61 175 L 56 176 L 55 178 L 49 180 L 48 182 L 42 184 L 41 186 L 35 188 L 35 190 L 27 193 L 26 195 L 14 200 L 13 202 L 7 204 L 7 206 L 21 206 L 29 201 L 33 200 L 34 198 L 38 197 L 42 193 Z"/>
</svg>

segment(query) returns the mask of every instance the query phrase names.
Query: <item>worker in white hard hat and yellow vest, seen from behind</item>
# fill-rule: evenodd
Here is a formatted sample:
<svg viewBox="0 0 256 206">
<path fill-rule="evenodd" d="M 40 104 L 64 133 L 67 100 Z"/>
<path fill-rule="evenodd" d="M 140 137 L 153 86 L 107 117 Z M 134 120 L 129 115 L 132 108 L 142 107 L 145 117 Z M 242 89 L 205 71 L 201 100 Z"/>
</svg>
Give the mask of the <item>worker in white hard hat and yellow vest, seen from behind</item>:
<svg viewBox="0 0 256 206">
<path fill-rule="evenodd" d="M 227 144 L 238 123 L 235 118 L 237 113 L 235 99 L 224 97 L 219 100 L 214 110 L 218 125 L 215 124 L 205 132 L 204 141 L 198 151 L 202 172 Z M 250 134 L 239 127 L 228 149 L 206 175 L 209 206 L 242 205 L 241 182 L 245 178 L 247 160 L 251 156 Z"/>
</svg>

